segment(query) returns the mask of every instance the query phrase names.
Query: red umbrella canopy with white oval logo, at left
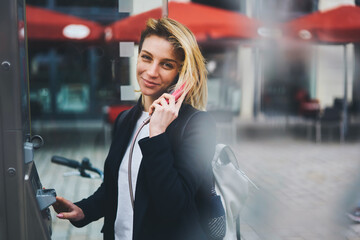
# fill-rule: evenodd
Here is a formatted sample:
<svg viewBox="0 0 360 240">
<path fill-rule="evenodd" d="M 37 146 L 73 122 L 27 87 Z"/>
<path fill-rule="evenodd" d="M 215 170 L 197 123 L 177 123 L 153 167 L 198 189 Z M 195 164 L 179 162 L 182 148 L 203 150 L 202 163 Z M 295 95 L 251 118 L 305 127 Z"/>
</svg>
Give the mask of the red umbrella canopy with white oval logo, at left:
<svg viewBox="0 0 360 240">
<path fill-rule="evenodd" d="M 97 41 L 103 27 L 95 22 L 45 8 L 26 6 L 27 36 L 33 40 Z"/>
</svg>

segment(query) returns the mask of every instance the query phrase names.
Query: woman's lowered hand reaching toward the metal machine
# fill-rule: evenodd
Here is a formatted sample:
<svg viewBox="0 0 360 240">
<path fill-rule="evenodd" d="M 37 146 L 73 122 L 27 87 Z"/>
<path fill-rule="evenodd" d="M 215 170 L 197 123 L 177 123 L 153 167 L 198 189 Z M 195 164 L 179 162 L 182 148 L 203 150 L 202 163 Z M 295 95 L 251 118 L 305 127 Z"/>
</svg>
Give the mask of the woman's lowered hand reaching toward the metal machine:
<svg viewBox="0 0 360 240">
<path fill-rule="evenodd" d="M 68 219 L 76 222 L 85 217 L 81 208 L 63 197 L 56 197 L 56 202 L 52 206 L 55 212 L 58 213 L 56 216 L 60 219 Z"/>
</svg>

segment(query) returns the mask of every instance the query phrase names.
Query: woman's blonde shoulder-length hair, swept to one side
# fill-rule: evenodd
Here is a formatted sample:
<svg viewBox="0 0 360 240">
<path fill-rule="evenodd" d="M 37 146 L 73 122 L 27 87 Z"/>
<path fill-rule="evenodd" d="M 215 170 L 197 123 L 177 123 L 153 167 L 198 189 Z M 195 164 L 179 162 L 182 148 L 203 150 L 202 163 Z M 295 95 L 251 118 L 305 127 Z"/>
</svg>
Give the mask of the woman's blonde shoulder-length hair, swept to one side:
<svg viewBox="0 0 360 240">
<path fill-rule="evenodd" d="M 187 92 L 184 102 L 194 108 L 205 110 L 207 102 L 207 70 L 205 59 L 200 52 L 194 34 L 183 24 L 170 19 L 150 18 L 146 28 L 141 33 L 139 52 L 145 38 L 156 35 L 167 39 L 179 54 L 182 66 L 179 71 L 179 79 L 172 86 L 174 90 L 184 85 Z"/>
</svg>

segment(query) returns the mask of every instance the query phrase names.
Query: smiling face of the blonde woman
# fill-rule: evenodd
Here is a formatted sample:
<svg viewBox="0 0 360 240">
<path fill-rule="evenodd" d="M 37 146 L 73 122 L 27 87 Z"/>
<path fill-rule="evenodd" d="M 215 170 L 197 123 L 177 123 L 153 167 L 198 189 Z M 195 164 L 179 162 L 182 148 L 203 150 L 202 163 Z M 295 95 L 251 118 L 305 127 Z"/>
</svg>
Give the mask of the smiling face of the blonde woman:
<svg viewBox="0 0 360 240">
<path fill-rule="evenodd" d="M 136 67 L 143 95 L 152 101 L 160 97 L 172 85 L 179 69 L 179 57 L 165 38 L 156 35 L 145 38 Z"/>
</svg>

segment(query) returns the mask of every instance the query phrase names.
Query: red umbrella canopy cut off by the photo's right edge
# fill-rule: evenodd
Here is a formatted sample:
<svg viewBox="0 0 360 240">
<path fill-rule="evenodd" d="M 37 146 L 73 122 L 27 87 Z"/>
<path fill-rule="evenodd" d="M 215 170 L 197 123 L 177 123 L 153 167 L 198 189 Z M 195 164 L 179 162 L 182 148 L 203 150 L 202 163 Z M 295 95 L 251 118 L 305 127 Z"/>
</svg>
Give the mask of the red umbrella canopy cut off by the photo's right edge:
<svg viewBox="0 0 360 240">
<path fill-rule="evenodd" d="M 360 7 L 341 6 L 297 18 L 286 24 L 285 35 L 328 43 L 360 42 Z"/>
</svg>

